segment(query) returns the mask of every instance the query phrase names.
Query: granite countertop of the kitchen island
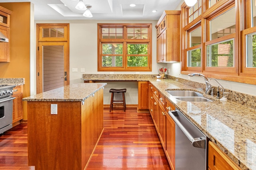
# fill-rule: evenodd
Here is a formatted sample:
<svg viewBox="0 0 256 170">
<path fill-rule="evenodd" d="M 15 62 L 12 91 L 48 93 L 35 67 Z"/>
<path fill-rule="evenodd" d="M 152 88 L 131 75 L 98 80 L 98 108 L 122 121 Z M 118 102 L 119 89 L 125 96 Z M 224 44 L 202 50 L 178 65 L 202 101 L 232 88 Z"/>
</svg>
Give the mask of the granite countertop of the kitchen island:
<svg viewBox="0 0 256 170">
<path fill-rule="evenodd" d="M 82 102 L 104 86 L 106 86 L 106 83 L 74 83 L 23 98 L 22 100 L 30 102 Z"/>
</svg>

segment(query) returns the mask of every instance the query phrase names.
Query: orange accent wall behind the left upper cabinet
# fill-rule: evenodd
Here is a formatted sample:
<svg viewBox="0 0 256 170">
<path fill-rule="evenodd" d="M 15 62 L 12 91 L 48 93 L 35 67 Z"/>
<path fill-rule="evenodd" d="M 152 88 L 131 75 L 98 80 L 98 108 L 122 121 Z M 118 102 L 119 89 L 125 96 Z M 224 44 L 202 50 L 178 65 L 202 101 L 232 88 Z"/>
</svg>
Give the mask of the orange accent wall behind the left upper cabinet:
<svg viewBox="0 0 256 170">
<path fill-rule="evenodd" d="M 30 96 L 30 2 L 0 3 L 10 17 L 10 63 L 0 63 L 0 78 L 25 78 L 23 97 Z M 24 119 L 27 106 L 23 102 Z"/>
</svg>

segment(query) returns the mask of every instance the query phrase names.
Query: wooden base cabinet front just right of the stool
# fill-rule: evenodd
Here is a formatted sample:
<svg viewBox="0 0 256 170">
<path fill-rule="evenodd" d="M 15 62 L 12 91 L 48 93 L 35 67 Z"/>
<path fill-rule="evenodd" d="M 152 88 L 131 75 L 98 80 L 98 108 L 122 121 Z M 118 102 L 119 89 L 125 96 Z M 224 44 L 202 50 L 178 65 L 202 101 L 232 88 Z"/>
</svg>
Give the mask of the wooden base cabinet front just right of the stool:
<svg viewBox="0 0 256 170">
<path fill-rule="evenodd" d="M 138 111 L 148 109 L 148 82 L 138 82 Z"/>
</svg>

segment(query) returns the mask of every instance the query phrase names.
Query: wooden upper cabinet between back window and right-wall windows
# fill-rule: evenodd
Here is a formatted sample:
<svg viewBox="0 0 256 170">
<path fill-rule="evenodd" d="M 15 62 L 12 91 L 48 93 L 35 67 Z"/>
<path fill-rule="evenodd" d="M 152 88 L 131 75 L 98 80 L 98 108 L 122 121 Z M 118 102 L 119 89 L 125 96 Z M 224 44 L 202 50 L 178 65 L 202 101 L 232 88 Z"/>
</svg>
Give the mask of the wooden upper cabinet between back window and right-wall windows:
<svg viewBox="0 0 256 170">
<path fill-rule="evenodd" d="M 164 11 L 156 24 L 157 63 L 180 61 L 180 11 Z"/>
</svg>

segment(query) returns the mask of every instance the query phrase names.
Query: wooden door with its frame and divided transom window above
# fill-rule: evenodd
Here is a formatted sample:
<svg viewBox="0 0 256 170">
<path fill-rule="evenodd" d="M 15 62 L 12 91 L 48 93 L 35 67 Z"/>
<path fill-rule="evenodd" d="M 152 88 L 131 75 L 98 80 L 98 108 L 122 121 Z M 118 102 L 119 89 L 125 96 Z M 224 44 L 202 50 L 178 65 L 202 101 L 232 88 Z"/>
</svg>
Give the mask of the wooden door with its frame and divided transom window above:
<svg viewBox="0 0 256 170">
<path fill-rule="evenodd" d="M 69 84 L 69 24 L 38 23 L 36 92 Z"/>
</svg>

